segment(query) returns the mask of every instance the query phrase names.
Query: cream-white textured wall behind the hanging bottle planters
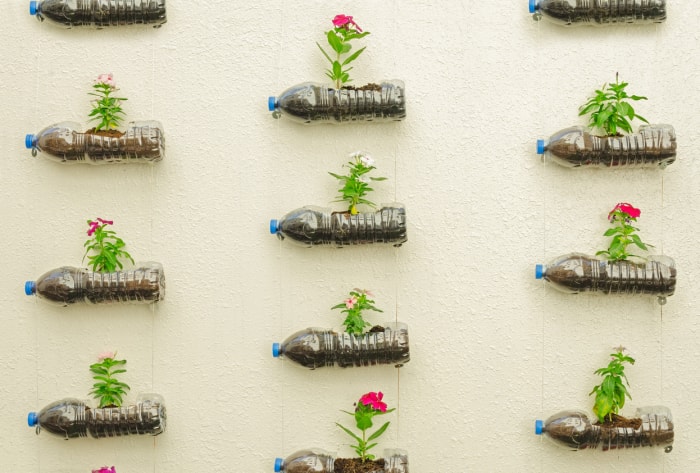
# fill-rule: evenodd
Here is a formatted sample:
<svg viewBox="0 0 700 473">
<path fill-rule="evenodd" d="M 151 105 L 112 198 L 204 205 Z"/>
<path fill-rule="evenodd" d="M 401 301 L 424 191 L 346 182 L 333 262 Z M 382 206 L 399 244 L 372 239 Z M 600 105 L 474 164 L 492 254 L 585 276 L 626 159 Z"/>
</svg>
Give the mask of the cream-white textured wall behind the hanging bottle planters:
<svg viewBox="0 0 700 473">
<path fill-rule="evenodd" d="M 155 31 L 64 31 L 26 3 L 4 7 L 0 32 L 0 471 L 265 472 L 306 447 L 350 456 L 334 422 L 370 390 L 399 407 L 382 446 L 408 450 L 417 473 L 697 468 L 696 2 L 668 2 L 658 27 L 568 30 L 533 22 L 526 0 L 173 0 Z M 314 42 L 337 13 L 372 32 L 357 81 L 406 82 L 405 122 L 303 127 L 269 116 L 268 95 L 323 80 Z M 543 165 L 535 140 L 583 124 L 577 107 L 617 71 L 649 97 L 641 115 L 675 126 L 678 161 L 664 172 Z M 84 122 L 103 72 L 129 97 L 131 119 L 164 124 L 166 159 L 32 159 L 25 133 Z M 403 248 L 304 250 L 268 234 L 270 218 L 329 205 L 326 172 L 357 149 L 390 178 L 375 200 L 407 205 Z M 605 246 L 619 201 L 641 207 L 645 240 L 677 260 L 663 310 L 533 278 L 536 262 Z M 163 263 L 164 302 L 54 308 L 23 295 L 25 279 L 80 264 L 85 220 L 97 216 L 116 220 L 137 260 Z M 406 367 L 307 372 L 271 358 L 270 343 L 298 329 L 338 326 L 329 308 L 355 286 L 376 292 L 386 313 L 373 321 L 409 324 Z M 626 412 L 669 406 L 674 451 L 569 453 L 536 437 L 535 418 L 592 405 L 592 372 L 619 344 L 637 358 Z M 87 397 L 88 365 L 104 349 L 128 359 L 131 399 L 165 397 L 167 432 L 36 437 L 26 412 Z"/>
</svg>

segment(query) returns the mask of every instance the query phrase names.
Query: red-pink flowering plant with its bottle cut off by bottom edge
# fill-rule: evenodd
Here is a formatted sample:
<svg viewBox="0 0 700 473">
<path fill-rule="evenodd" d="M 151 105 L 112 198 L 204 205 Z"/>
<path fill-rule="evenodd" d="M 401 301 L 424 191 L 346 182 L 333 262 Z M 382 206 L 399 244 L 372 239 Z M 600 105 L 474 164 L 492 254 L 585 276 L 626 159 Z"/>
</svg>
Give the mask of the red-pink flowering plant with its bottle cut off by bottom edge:
<svg viewBox="0 0 700 473">
<path fill-rule="evenodd" d="M 369 392 L 362 395 L 354 404 L 352 412 L 342 411 L 355 419 L 360 434 L 336 422 L 336 425 L 352 437 L 356 445 L 351 445 L 357 453 L 356 458 L 336 458 L 335 454 L 320 449 L 300 450 L 287 458 L 275 460 L 275 471 L 286 473 L 408 473 L 408 454 L 403 450 L 384 450 L 383 458 L 376 458 L 369 450 L 377 445 L 376 440 L 389 427 L 385 422 L 374 432 L 372 419 L 393 412 L 387 409 L 382 400 L 382 392 Z"/>
</svg>

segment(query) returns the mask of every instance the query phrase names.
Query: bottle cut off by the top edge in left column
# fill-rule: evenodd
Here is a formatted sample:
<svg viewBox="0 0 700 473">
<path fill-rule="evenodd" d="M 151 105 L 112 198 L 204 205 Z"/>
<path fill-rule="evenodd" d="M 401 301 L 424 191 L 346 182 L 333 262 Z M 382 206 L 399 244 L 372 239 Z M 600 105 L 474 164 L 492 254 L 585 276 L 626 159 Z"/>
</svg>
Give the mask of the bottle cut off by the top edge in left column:
<svg viewBox="0 0 700 473">
<path fill-rule="evenodd" d="M 153 25 L 167 21 L 165 0 L 41 0 L 29 2 L 39 21 L 63 27 Z"/>
</svg>

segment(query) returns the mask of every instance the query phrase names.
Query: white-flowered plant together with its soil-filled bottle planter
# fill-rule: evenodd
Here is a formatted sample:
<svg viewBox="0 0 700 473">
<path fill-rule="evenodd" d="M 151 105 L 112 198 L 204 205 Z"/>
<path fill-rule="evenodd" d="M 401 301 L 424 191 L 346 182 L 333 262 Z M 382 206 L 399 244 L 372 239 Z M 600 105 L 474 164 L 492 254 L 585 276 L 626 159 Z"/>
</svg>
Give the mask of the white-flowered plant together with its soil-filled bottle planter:
<svg viewBox="0 0 700 473">
<path fill-rule="evenodd" d="M 407 241 L 406 209 L 403 204 L 384 204 L 375 212 L 361 213 L 359 205 L 376 207 L 366 199 L 373 189 L 371 181 L 383 181 L 383 177 L 369 177 L 375 169 L 372 157 L 362 151 L 352 153 L 345 165 L 347 175 L 329 173 L 341 183 L 336 202 L 348 203 L 347 210 L 333 212 L 307 206 L 293 210 L 280 220 L 270 221 L 270 233 L 280 240 L 285 238 L 306 247 L 330 245 L 342 248 L 350 245 L 384 243 L 401 246 Z"/>
</svg>

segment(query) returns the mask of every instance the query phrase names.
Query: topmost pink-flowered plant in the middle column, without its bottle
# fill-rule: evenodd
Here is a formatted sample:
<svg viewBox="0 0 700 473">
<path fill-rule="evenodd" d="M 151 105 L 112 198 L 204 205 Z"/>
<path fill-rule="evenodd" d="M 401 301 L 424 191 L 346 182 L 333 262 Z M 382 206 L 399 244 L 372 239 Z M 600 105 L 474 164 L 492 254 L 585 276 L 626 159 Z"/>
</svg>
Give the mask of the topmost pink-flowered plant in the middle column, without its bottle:
<svg viewBox="0 0 700 473">
<path fill-rule="evenodd" d="M 351 16 L 336 15 L 332 21 L 334 28 L 326 33 L 326 38 L 328 39 L 328 44 L 335 53 L 335 59 L 331 58 L 331 54 L 328 54 L 318 42 L 316 45 L 325 58 L 328 59 L 328 62 L 331 63 L 331 68 L 326 71 L 326 75 L 335 82 L 336 88 L 340 88 L 341 84 L 351 82 L 349 72 L 352 70 L 352 67 L 346 68 L 345 66 L 357 59 L 365 50 L 366 46 L 346 57 L 343 62 L 340 62 L 341 56 L 343 54 L 348 54 L 352 50 L 350 41 L 364 38 L 369 34 L 369 31 L 363 32 L 362 28 L 353 21 Z"/>
</svg>

